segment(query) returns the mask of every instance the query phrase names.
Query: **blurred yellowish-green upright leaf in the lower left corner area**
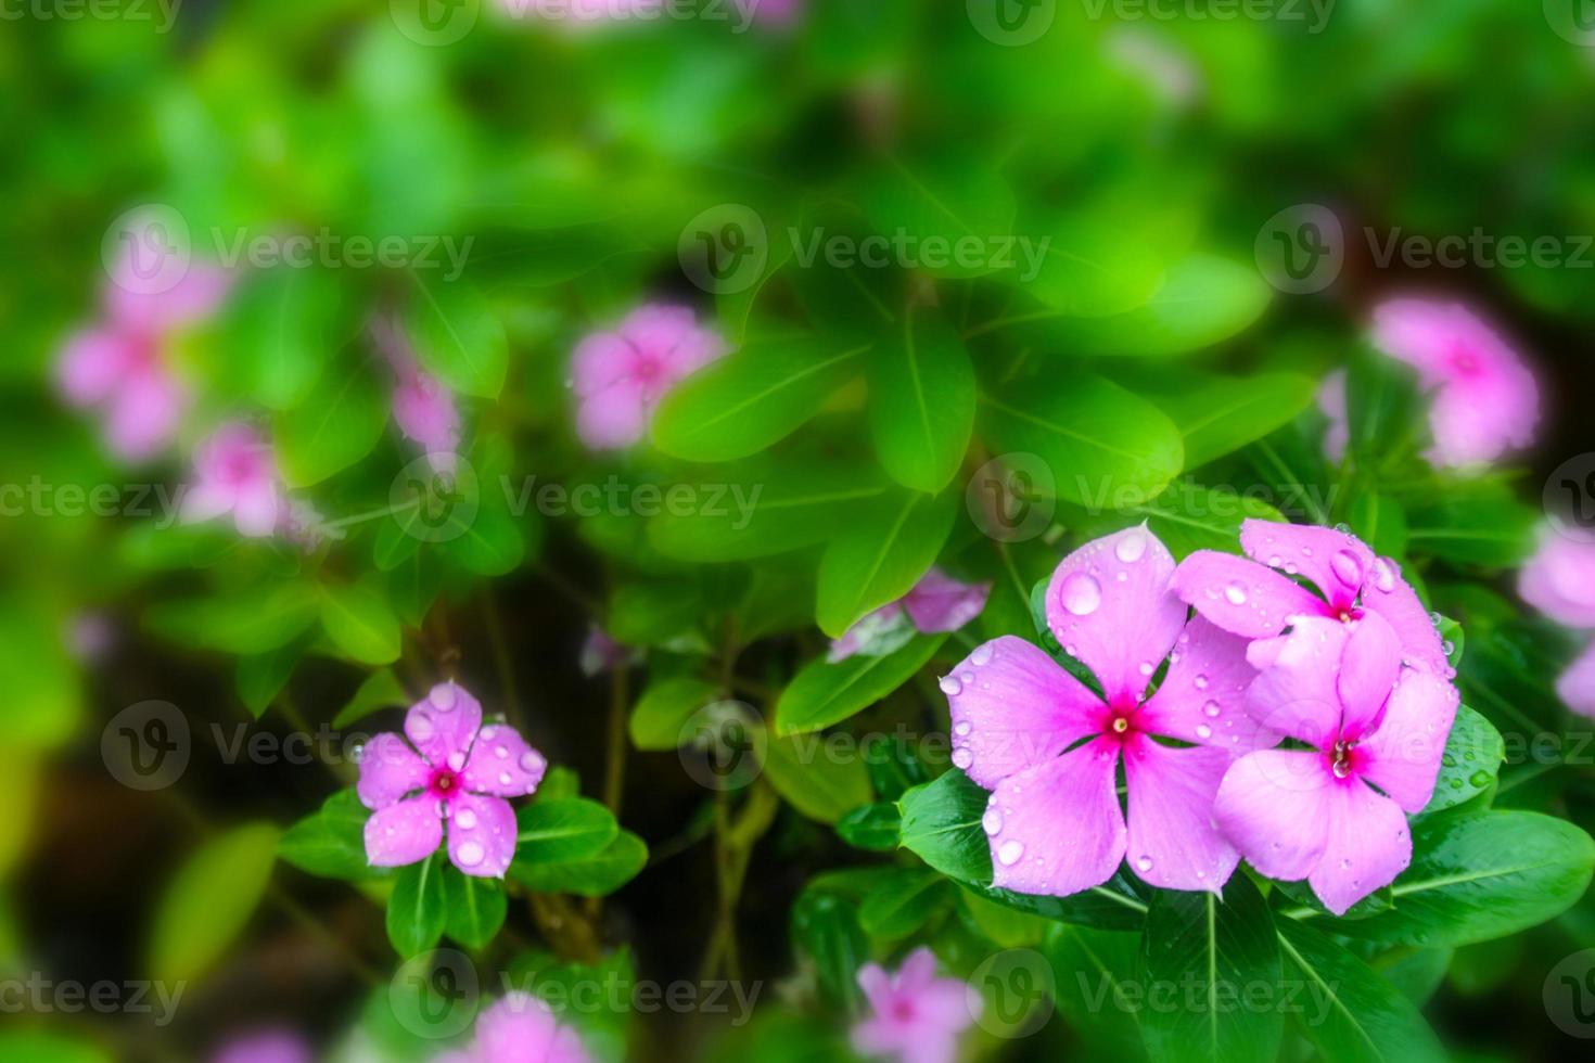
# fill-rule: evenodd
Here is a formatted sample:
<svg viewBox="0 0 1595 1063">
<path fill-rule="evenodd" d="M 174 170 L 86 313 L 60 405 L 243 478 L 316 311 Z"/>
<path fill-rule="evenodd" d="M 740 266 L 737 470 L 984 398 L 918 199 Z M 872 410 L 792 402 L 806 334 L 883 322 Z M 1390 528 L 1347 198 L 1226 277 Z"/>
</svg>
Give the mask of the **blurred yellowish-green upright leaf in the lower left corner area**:
<svg viewBox="0 0 1595 1063">
<path fill-rule="evenodd" d="M 271 881 L 278 829 L 234 827 L 183 861 L 155 912 L 150 972 L 163 982 L 191 982 L 215 964 L 249 924 Z"/>
</svg>

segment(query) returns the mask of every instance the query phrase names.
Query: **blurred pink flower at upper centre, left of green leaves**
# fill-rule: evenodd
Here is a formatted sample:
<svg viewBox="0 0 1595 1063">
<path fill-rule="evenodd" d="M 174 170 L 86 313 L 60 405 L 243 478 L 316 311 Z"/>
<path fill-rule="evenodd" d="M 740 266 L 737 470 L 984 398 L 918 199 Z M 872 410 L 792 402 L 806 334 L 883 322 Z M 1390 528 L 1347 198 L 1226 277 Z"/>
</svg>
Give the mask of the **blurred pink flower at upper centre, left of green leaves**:
<svg viewBox="0 0 1595 1063">
<path fill-rule="evenodd" d="M 640 306 L 614 331 L 593 333 L 576 347 L 577 435 L 595 451 L 632 446 L 648 433 L 659 400 L 724 354 L 724 341 L 700 328 L 691 308 Z"/>
</svg>

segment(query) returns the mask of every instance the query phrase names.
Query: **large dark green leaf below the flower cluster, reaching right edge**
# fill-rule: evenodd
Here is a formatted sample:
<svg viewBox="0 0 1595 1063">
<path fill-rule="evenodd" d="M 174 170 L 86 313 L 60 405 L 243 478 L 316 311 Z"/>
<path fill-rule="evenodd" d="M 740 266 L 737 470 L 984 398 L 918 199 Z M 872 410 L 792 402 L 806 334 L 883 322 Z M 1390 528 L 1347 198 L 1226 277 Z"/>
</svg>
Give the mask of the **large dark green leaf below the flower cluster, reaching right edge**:
<svg viewBox="0 0 1595 1063">
<path fill-rule="evenodd" d="M 1569 908 L 1595 869 L 1587 834 L 1538 813 L 1428 816 L 1413 822 L 1412 841 L 1392 908 L 1337 921 L 1337 932 L 1428 947 L 1506 937 Z"/>
</svg>

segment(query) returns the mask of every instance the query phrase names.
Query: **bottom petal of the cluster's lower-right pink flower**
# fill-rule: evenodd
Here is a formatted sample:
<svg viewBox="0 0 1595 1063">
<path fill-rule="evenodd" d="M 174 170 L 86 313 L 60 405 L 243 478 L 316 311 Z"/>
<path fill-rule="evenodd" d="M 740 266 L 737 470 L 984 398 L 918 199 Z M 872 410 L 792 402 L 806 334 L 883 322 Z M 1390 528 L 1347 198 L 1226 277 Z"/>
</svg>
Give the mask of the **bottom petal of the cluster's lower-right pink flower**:
<svg viewBox="0 0 1595 1063">
<path fill-rule="evenodd" d="M 1325 789 L 1324 856 L 1308 877 L 1313 892 L 1335 915 L 1396 881 L 1412 864 L 1412 834 L 1396 802 L 1356 778 Z"/>
</svg>

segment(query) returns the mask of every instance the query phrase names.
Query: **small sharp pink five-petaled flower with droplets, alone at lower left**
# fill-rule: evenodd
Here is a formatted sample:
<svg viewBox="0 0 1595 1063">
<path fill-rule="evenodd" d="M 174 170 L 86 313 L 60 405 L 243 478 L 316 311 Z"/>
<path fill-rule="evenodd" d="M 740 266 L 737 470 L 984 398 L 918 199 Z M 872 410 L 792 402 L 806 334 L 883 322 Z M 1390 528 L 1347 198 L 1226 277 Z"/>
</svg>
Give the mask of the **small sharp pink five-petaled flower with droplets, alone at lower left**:
<svg viewBox="0 0 1595 1063">
<path fill-rule="evenodd" d="M 360 754 L 356 792 L 372 867 L 424 861 L 443 841 L 466 875 L 502 878 L 515 856 L 515 810 L 506 797 L 538 789 L 547 762 L 504 724 L 482 727 L 482 704 L 451 682 L 432 687 L 404 720 L 410 739 L 386 732 Z"/>
</svg>

